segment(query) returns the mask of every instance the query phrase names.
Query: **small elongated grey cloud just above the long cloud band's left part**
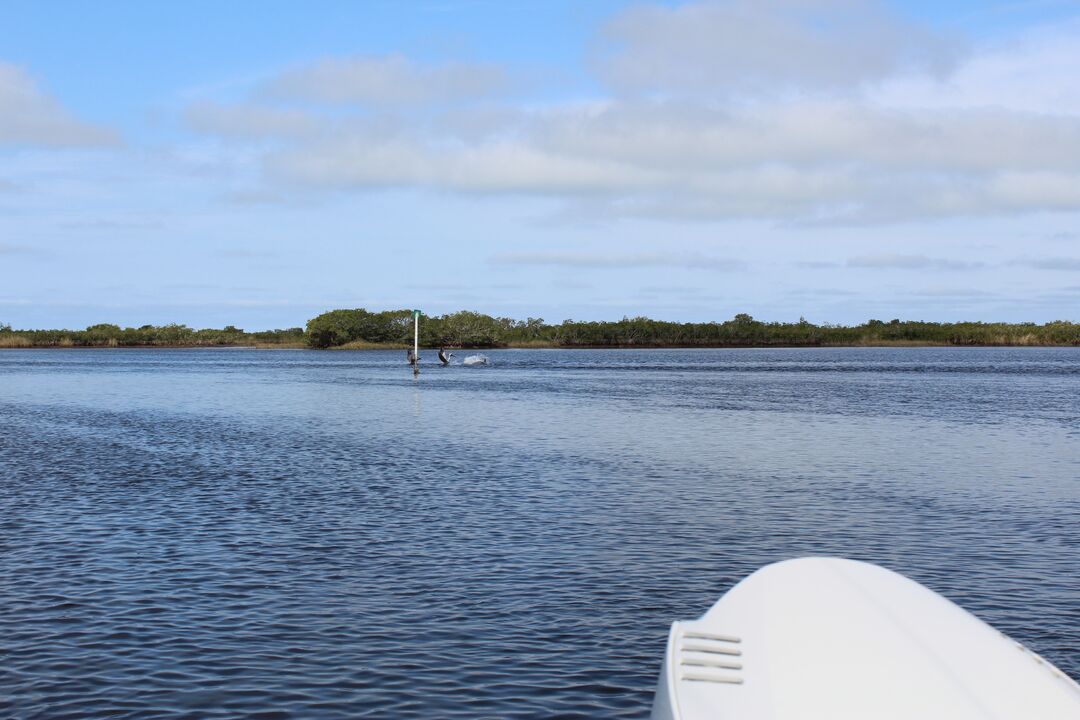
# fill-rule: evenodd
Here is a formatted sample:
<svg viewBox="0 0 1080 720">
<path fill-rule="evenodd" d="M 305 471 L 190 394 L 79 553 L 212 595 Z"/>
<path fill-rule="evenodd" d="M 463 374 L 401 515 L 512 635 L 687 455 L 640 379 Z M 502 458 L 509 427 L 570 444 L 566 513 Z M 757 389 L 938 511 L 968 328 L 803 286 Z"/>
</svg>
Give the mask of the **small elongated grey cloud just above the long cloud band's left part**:
<svg viewBox="0 0 1080 720">
<path fill-rule="evenodd" d="M 489 96 L 505 86 L 498 66 L 422 65 L 401 55 L 326 58 L 284 72 L 268 95 L 330 105 L 417 106 Z"/>
</svg>

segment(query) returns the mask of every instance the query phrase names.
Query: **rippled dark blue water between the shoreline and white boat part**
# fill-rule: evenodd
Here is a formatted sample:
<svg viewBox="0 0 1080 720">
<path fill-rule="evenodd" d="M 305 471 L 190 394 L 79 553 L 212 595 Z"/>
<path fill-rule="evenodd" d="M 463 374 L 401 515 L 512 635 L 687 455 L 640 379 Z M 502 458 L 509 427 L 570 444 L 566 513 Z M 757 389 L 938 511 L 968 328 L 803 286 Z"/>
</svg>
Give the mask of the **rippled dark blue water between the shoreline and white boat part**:
<svg viewBox="0 0 1080 720">
<path fill-rule="evenodd" d="M 0 716 L 647 717 L 843 555 L 1080 677 L 1080 350 L 0 352 Z"/>
</svg>

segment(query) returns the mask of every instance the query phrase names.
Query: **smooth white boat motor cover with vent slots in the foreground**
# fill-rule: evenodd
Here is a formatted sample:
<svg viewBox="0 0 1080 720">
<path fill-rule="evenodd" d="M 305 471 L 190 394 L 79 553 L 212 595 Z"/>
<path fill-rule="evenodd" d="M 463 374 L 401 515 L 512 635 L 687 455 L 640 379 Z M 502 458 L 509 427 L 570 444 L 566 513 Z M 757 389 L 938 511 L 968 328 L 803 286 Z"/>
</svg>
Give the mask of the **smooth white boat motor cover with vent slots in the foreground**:
<svg viewBox="0 0 1080 720">
<path fill-rule="evenodd" d="M 1080 685 L 903 575 L 802 558 L 672 625 L 652 718 L 1080 720 Z"/>
</svg>

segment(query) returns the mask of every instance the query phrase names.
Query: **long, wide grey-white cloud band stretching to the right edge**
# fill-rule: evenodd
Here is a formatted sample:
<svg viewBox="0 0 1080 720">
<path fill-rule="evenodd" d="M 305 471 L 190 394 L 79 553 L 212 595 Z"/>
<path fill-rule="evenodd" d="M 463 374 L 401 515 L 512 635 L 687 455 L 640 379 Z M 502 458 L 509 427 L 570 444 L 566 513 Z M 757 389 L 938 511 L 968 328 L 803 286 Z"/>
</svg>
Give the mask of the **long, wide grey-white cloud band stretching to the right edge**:
<svg viewBox="0 0 1080 720">
<path fill-rule="evenodd" d="M 268 168 L 315 187 L 590 193 L 616 216 L 892 221 L 1080 208 L 1080 118 L 612 101 L 519 112 L 484 137 L 327 133 Z"/>
</svg>

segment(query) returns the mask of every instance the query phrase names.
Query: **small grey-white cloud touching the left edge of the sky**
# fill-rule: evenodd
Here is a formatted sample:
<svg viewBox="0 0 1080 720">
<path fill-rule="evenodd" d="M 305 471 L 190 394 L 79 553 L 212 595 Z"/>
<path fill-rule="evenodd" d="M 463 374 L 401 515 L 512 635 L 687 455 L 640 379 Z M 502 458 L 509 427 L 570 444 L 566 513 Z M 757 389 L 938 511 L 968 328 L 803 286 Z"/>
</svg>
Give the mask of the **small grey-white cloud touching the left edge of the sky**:
<svg viewBox="0 0 1080 720">
<path fill-rule="evenodd" d="M 116 141 L 111 131 L 77 120 L 26 70 L 0 63 L 0 146 L 79 147 Z"/>
</svg>

